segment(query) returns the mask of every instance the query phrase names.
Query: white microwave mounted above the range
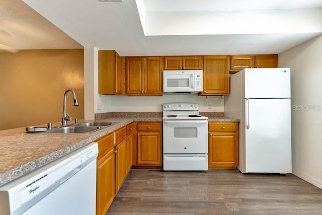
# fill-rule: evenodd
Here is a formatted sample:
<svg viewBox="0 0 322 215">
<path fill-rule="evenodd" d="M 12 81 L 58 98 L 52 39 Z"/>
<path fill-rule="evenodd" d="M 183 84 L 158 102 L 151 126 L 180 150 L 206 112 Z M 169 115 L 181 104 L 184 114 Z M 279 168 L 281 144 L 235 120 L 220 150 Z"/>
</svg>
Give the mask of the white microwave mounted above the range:
<svg viewBox="0 0 322 215">
<path fill-rule="evenodd" d="M 202 70 L 164 70 L 164 94 L 202 92 Z"/>
</svg>

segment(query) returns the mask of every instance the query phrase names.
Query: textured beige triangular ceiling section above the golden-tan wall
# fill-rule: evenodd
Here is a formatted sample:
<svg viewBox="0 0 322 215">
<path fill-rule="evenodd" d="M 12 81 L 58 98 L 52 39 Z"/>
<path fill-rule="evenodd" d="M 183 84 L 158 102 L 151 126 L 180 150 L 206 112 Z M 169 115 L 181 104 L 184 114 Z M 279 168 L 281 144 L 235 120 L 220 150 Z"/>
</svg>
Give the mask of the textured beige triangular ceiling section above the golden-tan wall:
<svg viewBox="0 0 322 215">
<path fill-rule="evenodd" d="M 21 0 L 0 0 L 1 50 L 63 48 L 83 46 Z"/>
</svg>

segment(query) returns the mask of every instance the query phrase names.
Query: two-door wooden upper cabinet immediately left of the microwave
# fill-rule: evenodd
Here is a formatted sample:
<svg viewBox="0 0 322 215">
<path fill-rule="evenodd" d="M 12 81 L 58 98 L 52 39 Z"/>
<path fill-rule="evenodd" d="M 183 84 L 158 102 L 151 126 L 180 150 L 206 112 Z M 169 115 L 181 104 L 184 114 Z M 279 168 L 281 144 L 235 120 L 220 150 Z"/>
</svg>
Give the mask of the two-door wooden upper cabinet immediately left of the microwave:
<svg viewBox="0 0 322 215">
<path fill-rule="evenodd" d="M 163 57 L 126 57 L 126 94 L 162 96 L 163 67 Z"/>
</svg>

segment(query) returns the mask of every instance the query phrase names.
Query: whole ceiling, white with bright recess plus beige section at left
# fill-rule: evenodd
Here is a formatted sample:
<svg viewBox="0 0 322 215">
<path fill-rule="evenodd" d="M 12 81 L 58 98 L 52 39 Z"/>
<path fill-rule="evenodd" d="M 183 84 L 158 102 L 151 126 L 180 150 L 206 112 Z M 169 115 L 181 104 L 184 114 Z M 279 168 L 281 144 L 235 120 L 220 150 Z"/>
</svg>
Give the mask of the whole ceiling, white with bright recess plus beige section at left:
<svg viewBox="0 0 322 215">
<path fill-rule="evenodd" d="M 116 50 L 122 56 L 271 54 L 322 33 L 322 0 L 23 1 L 69 36 L 62 36 L 22 1 L 0 0 L 5 4 L 0 6 L 0 29 L 17 36 L 7 43 L 3 38 L 9 36 L 0 30 L 0 43 L 15 49 L 81 44 Z M 21 8 L 3 14 L 13 10 L 13 2 Z M 15 23 L 16 29 L 4 26 L 6 22 Z M 27 36 L 15 33 L 24 28 L 31 29 Z"/>
</svg>

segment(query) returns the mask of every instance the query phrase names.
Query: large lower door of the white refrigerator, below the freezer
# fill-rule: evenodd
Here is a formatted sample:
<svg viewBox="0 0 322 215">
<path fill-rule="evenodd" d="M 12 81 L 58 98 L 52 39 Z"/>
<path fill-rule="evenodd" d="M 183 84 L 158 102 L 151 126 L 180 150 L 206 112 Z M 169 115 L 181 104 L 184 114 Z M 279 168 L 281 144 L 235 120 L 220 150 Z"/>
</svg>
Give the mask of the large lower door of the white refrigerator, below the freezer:
<svg viewBox="0 0 322 215">
<path fill-rule="evenodd" d="M 245 101 L 245 160 L 248 173 L 291 173 L 290 99 Z"/>
</svg>

